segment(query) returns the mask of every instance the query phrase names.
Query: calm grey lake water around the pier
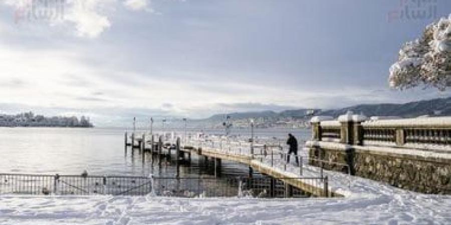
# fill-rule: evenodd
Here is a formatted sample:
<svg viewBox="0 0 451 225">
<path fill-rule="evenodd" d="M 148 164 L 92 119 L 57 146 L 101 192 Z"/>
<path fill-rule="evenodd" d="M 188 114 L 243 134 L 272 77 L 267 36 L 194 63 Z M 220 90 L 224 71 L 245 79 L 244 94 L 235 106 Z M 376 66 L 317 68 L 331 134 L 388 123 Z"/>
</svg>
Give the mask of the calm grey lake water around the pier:
<svg viewBox="0 0 451 225">
<path fill-rule="evenodd" d="M 223 133 L 221 130 L 204 132 Z M 300 140 L 311 136 L 309 129 L 256 129 L 255 135 L 285 138 L 288 132 Z M 250 131 L 233 130 L 232 134 L 250 135 Z M 86 169 L 93 175 L 174 174 L 175 166 L 170 160 L 159 167 L 152 165 L 149 154 L 142 163 L 137 152 L 128 150 L 125 154 L 124 129 L 121 128 L 0 127 L 1 173 L 80 174 Z M 203 160 L 192 155 L 192 163 L 182 165 L 180 174 L 212 174 L 209 162 Z M 245 165 L 222 162 L 224 175 L 248 172 Z"/>
</svg>

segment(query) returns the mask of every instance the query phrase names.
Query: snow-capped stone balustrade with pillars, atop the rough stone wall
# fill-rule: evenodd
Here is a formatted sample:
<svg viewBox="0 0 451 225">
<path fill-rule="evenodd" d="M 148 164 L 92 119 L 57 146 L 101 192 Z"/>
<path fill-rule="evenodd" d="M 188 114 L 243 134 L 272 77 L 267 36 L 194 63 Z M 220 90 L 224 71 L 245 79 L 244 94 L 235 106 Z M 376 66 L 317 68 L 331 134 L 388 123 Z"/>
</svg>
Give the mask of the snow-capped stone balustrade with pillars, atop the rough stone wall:
<svg viewBox="0 0 451 225">
<path fill-rule="evenodd" d="M 313 139 L 343 144 L 421 149 L 451 148 L 451 117 L 369 120 L 345 114 L 336 120 L 312 119 Z"/>
</svg>

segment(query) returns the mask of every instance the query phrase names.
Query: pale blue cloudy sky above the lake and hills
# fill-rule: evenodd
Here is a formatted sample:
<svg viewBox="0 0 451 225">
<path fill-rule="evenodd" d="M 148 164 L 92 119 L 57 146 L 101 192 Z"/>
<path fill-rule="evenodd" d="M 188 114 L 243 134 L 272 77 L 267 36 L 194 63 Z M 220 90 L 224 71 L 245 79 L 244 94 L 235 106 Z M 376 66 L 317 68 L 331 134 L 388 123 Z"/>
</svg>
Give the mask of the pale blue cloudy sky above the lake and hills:
<svg viewBox="0 0 451 225">
<path fill-rule="evenodd" d="M 448 97 L 387 80 L 402 44 L 450 9 L 448 0 L 0 0 L 0 113 L 114 125 Z"/>
</svg>

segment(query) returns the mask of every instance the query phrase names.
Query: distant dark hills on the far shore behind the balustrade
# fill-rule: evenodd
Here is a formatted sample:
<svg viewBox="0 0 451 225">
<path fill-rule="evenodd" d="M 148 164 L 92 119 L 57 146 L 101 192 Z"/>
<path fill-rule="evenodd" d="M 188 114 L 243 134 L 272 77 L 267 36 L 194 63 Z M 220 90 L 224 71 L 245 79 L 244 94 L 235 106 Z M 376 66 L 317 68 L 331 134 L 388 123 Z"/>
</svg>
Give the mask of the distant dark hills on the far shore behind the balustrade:
<svg viewBox="0 0 451 225">
<path fill-rule="evenodd" d="M 291 109 L 281 112 L 274 112 L 271 110 L 254 111 L 254 112 L 234 112 L 228 114 L 214 114 L 207 118 L 209 121 L 223 121 L 227 115 L 233 119 L 246 118 L 276 118 L 276 117 L 295 117 L 307 118 L 314 110 L 315 115 L 330 115 L 338 117 L 347 111 L 354 113 L 362 113 L 366 116 L 380 115 L 380 116 L 400 116 L 400 117 L 416 117 L 420 115 L 451 115 L 451 97 L 436 98 L 431 100 L 412 101 L 403 104 L 381 103 L 381 104 L 358 104 L 354 106 L 344 107 L 340 109 Z"/>
</svg>

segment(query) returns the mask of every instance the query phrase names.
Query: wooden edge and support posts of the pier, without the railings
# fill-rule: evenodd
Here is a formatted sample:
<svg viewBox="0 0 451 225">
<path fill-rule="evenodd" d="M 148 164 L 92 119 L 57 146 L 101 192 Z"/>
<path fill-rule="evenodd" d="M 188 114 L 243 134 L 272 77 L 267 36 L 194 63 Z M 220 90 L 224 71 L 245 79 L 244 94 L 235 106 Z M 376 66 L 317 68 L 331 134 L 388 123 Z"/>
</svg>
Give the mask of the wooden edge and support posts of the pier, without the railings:
<svg viewBox="0 0 451 225">
<path fill-rule="evenodd" d="M 128 141 L 128 139 L 130 141 Z M 221 161 L 229 160 L 248 165 L 250 168 L 249 176 L 252 176 L 253 170 L 257 170 L 275 179 L 282 180 L 286 183 L 286 188 L 288 189 L 296 187 L 314 196 L 342 196 L 329 190 L 327 177 L 323 185 L 314 185 L 307 182 L 303 177 L 287 175 L 286 172 L 272 167 L 271 165 L 264 164 L 250 155 L 228 153 L 220 151 L 218 148 L 200 147 L 195 144 L 182 145 L 180 143 L 180 137 L 176 138 L 175 143 L 163 141 L 162 136 L 158 136 L 158 140 L 155 140 L 154 135 L 151 135 L 148 139 L 149 140 L 146 140 L 144 134 L 140 137 L 136 137 L 133 133 L 130 136 L 127 136 L 127 133 L 125 133 L 125 151 L 127 151 L 127 146 L 130 146 L 132 151 L 133 149 L 138 149 L 140 152 L 148 151 L 161 156 L 166 155 L 170 157 L 171 155 L 175 155 L 176 177 L 179 177 L 180 174 L 180 164 L 182 162 L 189 163 L 191 161 L 191 154 L 197 154 L 199 156 L 204 156 L 205 158 L 211 158 L 214 161 L 214 174 L 216 176 L 220 176 Z M 163 149 L 165 149 L 165 151 L 163 151 Z M 142 160 L 143 162 L 145 160 L 144 153 L 142 153 Z M 159 163 L 161 163 L 161 160 Z"/>
</svg>

